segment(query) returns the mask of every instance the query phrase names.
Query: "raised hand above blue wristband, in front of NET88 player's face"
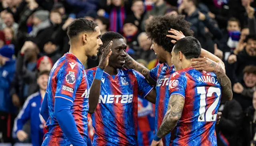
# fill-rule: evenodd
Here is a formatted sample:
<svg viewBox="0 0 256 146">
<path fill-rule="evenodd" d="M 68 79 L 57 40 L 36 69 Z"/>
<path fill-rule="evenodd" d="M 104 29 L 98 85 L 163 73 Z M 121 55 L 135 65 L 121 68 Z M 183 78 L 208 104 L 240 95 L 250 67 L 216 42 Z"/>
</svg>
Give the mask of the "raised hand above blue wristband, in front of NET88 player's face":
<svg viewBox="0 0 256 146">
<path fill-rule="evenodd" d="M 106 66 L 108 66 L 108 59 L 112 54 L 112 51 L 111 51 L 112 43 L 113 41 L 110 41 L 110 43 L 106 46 L 106 48 L 104 49 L 104 52 L 102 53 L 100 63 L 99 63 L 100 69 L 105 69 Z"/>
</svg>

